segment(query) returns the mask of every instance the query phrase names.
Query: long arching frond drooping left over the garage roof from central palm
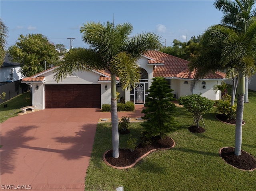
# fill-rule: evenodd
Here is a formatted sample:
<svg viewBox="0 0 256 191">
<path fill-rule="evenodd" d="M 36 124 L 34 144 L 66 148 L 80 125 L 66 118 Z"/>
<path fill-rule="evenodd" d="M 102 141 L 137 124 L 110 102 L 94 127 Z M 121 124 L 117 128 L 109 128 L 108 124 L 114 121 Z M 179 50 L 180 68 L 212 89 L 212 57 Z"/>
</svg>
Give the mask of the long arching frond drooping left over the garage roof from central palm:
<svg viewBox="0 0 256 191">
<path fill-rule="evenodd" d="M 101 57 L 92 49 L 72 49 L 65 54 L 64 61 L 54 70 L 54 80 L 62 81 L 74 71 L 101 70 L 108 67 Z"/>
</svg>

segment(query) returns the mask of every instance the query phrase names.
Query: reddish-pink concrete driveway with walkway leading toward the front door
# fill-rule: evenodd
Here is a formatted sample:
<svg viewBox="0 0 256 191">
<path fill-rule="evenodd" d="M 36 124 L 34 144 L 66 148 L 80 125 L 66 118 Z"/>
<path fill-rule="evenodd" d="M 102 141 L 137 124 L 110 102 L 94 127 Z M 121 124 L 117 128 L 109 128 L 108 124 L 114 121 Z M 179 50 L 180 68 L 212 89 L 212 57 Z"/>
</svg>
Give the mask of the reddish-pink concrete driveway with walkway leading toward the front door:
<svg viewBox="0 0 256 191">
<path fill-rule="evenodd" d="M 135 112 L 118 117 L 139 118 Z M 99 118 L 110 112 L 94 108 L 44 109 L 1 124 L 1 190 L 84 191 Z"/>
</svg>

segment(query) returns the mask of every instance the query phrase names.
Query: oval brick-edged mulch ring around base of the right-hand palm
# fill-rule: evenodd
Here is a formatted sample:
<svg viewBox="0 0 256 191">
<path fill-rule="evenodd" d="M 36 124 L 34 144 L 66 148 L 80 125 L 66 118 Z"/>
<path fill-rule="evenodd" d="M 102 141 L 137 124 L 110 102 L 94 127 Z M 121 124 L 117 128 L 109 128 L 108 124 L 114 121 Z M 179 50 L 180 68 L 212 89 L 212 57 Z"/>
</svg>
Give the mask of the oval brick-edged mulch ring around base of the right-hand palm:
<svg viewBox="0 0 256 191">
<path fill-rule="evenodd" d="M 256 159 L 243 150 L 241 150 L 241 155 L 237 156 L 234 147 L 224 147 L 220 149 L 219 154 L 226 163 L 237 169 L 244 171 L 256 169 Z"/>
</svg>

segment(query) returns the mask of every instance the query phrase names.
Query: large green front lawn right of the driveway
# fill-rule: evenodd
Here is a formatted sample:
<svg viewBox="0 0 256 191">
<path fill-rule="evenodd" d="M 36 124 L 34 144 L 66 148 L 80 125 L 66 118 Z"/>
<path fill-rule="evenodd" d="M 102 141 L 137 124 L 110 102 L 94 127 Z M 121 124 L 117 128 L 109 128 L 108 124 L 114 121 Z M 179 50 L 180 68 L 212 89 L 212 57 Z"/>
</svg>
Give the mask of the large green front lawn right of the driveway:
<svg viewBox="0 0 256 191">
<path fill-rule="evenodd" d="M 244 104 L 242 150 L 256 157 L 256 92 L 249 91 L 250 103 Z M 190 113 L 178 108 L 176 132 L 170 137 L 176 146 L 157 151 L 142 159 L 135 167 L 120 170 L 107 166 L 102 156 L 112 148 L 111 124 L 98 124 L 92 157 L 88 167 L 86 191 L 114 191 L 122 185 L 125 191 L 251 191 L 256 190 L 256 170 L 242 171 L 226 164 L 219 156 L 222 147 L 234 147 L 235 126 L 214 118 L 215 111 L 205 114 L 206 131 L 192 134 Z M 139 123 L 130 132 L 139 138 Z M 120 148 L 126 148 L 130 135 L 120 135 Z"/>
</svg>

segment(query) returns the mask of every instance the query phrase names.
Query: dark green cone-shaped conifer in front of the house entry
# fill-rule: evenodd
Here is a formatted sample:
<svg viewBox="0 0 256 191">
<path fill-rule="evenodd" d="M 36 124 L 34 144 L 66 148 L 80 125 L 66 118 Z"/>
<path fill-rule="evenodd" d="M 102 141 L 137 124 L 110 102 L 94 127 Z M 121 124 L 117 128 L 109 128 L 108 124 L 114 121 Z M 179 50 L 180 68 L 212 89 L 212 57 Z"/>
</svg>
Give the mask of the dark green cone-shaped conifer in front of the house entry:
<svg viewBox="0 0 256 191">
<path fill-rule="evenodd" d="M 152 85 L 148 92 L 150 93 L 145 100 L 146 109 L 142 110 L 146 121 L 142 122 L 145 129 L 146 141 L 148 138 L 160 136 L 164 138 L 168 133 L 175 130 L 176 122 L 174 114 L 176 106 L 172 103 L 173 90 L 167 85 L 167 81 L 163 77 L 153 78 Z"/>
</svg>

